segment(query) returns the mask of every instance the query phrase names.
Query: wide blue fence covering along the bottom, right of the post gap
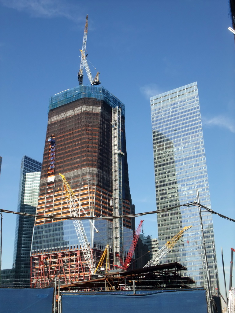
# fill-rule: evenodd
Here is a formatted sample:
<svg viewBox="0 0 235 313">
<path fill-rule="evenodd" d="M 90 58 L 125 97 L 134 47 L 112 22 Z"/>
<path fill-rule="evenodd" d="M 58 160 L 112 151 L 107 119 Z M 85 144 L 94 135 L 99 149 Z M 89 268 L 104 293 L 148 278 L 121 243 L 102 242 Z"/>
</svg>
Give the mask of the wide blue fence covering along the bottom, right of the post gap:
<svg viewBox="0 0 235 313">
<path fill-rule="evenodd" d="M 62 313 L 207 313 L 206 290 L 62 294 Z"/>
</svg>

